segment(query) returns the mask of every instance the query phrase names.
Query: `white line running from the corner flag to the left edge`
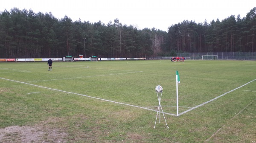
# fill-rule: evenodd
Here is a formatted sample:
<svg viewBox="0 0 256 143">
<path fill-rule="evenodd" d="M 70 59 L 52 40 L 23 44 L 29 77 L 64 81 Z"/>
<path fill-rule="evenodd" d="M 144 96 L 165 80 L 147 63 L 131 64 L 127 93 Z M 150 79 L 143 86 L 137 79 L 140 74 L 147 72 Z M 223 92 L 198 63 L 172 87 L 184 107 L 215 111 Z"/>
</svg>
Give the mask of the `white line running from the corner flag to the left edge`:
<svg viewBox="0 0 256 143">
<path fill-rule="evenodd" d="M 0 79 L 4 79 L 4 78 L 1 78 L 1 77 L 0 77 Z M 79 93 L 71 93 L 71 92 L 68 92 L 68 91 L 57 90 L 57 89 L 48 88 L 48 87 L 42 87 L 42 86 L 39 86 L 39 85 L 29 84 L 29 83 L 26 83 L 26 82 L 15 81 L 15 80 L 11 80 L 11 79 L 5 79 L 5 80 L 14 81 L 14 82 L 22 83 L 22 84 L 28 84 L 28 85 L 32 85 L 32 86 L 35 86 L 35 87 L 46 88 L 46 89 L 49 89 L 49 90 L 60 91 L 60 92 L 64 92 L 64 93 L 70 93 L 70 94 L 75 94 L 75 95 L 81 95 L 81 96 L 85 96 L 85 97 L 89 97 L 89 98 L 94 98 L 94 99 L 98 99 L 98 100 L 102 100 L 102 101 L 108 101 L 108 102 L 112 102 L 112 103 L 116 103 L 116 104 L 122 104 L 122 105 L 127 105 L 127 106 L 131 106 L 131 107 L 137 107 L 137 108 L 142 108 L 142 109 L 147 109 L 147 110 L 151 110 L 151 111 L 157 112 L 157 110 L 153 110 L 153 109 L 149 109 L 149 108 L 145 108 L 145 107 L 139 107 L 139 106 L 135 106 L 135 105 L 131 105 L 131 104 L 126 104 L 126 103 L 121 103 L 121 102 L 106 100 L 106 99 L 97 98 L 97 97 L 92 97 L 92 96 L 83 95 L 83 94 L 79 94 Z M 162 113 L 162 112 L 161 112 L 161 113 Z M 174 115 L 174 114 L 166 113 L 166 112 L 163 112 L 163 113 L 164 113 L 164 114 L 168 114 L 168 115 Z M 176 116 L 176 115 L 174 115 L 174 116 Z"/>
</svg>

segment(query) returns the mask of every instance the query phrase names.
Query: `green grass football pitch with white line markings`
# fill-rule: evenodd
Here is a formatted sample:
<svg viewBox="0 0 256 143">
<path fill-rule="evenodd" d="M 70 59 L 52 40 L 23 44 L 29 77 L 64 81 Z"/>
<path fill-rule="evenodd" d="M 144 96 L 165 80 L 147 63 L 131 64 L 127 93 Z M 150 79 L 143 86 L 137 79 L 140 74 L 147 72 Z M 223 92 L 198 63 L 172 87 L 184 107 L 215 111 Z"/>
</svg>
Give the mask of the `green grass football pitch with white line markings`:
<svg viewBox="0 0 256 143">
<path fill-rule="evenodd" d="M 3 143 L 256 142 L 256 61 L 2 62 L 0 83 Z"/>
</svg>

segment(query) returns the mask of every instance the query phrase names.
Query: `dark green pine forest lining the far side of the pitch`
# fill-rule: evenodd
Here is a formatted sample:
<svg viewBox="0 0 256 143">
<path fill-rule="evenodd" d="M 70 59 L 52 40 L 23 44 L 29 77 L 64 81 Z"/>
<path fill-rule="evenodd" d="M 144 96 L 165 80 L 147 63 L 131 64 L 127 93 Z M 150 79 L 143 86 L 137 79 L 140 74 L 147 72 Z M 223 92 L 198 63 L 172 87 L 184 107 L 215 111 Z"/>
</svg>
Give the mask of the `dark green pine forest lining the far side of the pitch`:
<svg viewBox="0 0 256 143">
<path fill-rule="evenodd" d="M 167 18 L 167 17 L 166 17 Z M 172 17 L 168 17 L 172 18 Z M 196 23 L 184 20 L 168 31 L 57 19 L 49 13 L 12 8 L 0 11 L 0 58 L 146 57 L 176 52 L 256 52 L 256 7 L 243 18 Z"/>
</svg>

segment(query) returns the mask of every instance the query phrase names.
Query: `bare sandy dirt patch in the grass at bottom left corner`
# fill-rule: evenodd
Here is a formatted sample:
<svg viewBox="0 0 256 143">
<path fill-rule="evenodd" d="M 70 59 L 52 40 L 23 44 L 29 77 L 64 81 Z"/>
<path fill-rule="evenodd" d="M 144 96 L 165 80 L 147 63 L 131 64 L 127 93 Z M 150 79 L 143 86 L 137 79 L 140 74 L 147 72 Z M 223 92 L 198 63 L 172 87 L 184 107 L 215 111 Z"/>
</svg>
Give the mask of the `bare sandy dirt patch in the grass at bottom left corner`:
<svg viewBox="0 0 256 143">
<path fill-rule="evenodd" d="M 67 134 L 37 126 L 9 126 L 0 129 L 0 143 L 63 143 Z"/>
</svg>

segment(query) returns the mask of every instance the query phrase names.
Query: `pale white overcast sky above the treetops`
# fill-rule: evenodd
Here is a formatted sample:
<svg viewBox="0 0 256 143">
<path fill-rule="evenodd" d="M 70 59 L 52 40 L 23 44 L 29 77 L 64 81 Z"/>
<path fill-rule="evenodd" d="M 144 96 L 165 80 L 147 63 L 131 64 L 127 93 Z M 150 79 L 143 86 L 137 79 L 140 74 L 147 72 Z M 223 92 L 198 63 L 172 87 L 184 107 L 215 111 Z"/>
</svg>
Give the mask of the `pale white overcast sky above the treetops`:
<svg viewBox="0 0 256 143">
<path fill-rule="evenodd" d="M 246 17 L 256 7 L 256 0 L 2 0 L 0 11 L 14 7 L 52 12 L 58 19 L 67 15 L 73 22 L 80 18 L 82 22 L 108 24 L 118 18 L 122 25 L 168 31 L 169 26 L 183 20 L 203 23 L 238 14 Z"/>
</svg>

